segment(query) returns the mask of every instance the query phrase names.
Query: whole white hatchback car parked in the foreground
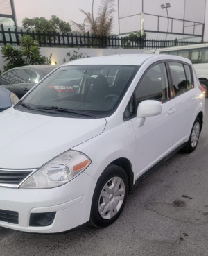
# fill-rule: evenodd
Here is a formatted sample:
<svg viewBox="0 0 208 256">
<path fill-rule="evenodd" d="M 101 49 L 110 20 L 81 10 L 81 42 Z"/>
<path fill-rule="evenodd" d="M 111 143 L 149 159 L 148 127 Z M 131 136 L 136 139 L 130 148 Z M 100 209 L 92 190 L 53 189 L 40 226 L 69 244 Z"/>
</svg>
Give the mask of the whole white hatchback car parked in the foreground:
<svg viewBox="0 0 208 256">
<path fill-rule="evenodd" d="M 62 85 L 74 93 L 58 94 Z M 196 148 L 204 108 L 186 58 L 103 56 L 55 69 L 0 114 L 0 225 L 110 225 L 141 176 Z"/>
</svg>

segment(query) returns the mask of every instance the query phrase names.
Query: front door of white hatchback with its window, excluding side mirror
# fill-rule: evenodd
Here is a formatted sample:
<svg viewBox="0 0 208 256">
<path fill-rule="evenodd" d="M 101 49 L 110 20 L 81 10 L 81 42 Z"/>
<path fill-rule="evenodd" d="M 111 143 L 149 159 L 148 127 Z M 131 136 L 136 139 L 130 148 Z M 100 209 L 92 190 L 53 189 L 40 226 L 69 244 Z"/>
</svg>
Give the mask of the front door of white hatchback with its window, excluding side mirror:
<svg viewBox="0 0 208 256">
<path fill-rule="evenodd" d="M 131 119 L 137 140 L 135 179 L 180 144 L 181 128 L 175 133 L 177 97 L 172 96 L 169 85 L 167 64 L 159 62 L 148 68 L 135 90 L 137 106 L 146 99 L 162 104 L 161 114 L 146 117 L 144 123 L 139 124 L 137 117 Z"/>
</svg>

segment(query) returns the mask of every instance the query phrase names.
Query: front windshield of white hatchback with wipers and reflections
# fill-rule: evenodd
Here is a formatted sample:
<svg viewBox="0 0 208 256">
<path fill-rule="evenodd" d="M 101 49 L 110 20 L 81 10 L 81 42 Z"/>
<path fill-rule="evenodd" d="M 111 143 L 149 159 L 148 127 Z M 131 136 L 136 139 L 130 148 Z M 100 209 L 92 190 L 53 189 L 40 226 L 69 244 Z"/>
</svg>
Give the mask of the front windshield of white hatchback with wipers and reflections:
<svg viewBox="0 0 208 256">
<path fill-rule="evenodd" d="M 107 117 L 116 109 L 138 69 L 123 65 L 62 66 L 15 108 L 60 116 Z"/>
</svg>

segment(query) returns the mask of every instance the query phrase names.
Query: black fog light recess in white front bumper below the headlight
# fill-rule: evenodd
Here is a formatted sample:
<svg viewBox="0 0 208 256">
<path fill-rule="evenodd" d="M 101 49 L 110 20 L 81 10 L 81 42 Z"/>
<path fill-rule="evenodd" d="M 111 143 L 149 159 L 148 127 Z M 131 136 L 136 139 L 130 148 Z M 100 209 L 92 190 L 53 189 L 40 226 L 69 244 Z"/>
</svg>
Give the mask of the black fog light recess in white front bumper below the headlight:
<svg viewBox="0 0 208 256">
<path fill-rule="evenodd" d="M 55 213 L 56 212 L 32 213 L 30 218 L 30 226 L 44 227 L 46 225 L 51 225 L 55 218 Z"/>
</svg>

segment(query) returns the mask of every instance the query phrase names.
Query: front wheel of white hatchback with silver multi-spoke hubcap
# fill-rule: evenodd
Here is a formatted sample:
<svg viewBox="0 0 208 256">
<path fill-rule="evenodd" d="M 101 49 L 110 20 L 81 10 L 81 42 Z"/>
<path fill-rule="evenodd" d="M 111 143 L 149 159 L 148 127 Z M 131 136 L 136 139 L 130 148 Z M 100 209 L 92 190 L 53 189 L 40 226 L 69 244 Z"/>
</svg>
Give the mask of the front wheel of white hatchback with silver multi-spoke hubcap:
<svg viewBox="0 0 208 256">
<path fill-rule="evenodd" d="M 125 171 L 111 164 L 98 178 L 90 221 L 97 228 L 113 223 L 121 214 L 128 196 L 128 176 Z"/>
</svg>

